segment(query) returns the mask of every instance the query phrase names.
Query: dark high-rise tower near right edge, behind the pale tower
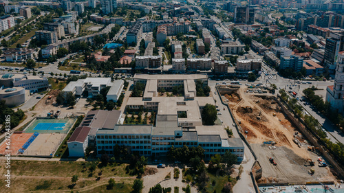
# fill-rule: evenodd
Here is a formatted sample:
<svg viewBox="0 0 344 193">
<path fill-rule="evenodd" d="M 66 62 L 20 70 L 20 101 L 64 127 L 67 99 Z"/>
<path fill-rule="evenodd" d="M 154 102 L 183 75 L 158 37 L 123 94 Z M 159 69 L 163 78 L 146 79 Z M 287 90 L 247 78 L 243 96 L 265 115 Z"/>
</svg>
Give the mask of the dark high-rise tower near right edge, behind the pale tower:
<svg viewBox="0 0 344 193">
<path fill-rule="evenodd" d="M 344 51 L 344 32 L 334 33 L 331 32 L 330 36 L 326 39 L 325 46 L 325 65 L 334 71 L 336 69 L 336 61 L 338 53 Z"/>
</svg>

